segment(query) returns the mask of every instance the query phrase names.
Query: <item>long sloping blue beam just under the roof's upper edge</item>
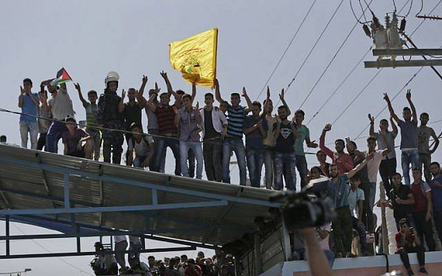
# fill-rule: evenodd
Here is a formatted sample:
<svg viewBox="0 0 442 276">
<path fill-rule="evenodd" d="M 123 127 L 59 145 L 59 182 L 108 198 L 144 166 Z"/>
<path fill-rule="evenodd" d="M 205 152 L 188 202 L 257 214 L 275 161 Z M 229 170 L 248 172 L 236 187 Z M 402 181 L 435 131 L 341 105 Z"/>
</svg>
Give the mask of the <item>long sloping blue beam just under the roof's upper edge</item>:
<svg viewBox="0 0 442 276">
<path fill-rule="evenodd" d="M 178 194 L 182 194 L 182 195 L 191 195 L 194 197 L 204 197 L 204 198 L 208 198 L 208 199 L 236 201 L 236 202 L 240 202 L 242 204 L 253 204 L 253 205 L 276 207 L 276 208 L 281 206 L 281 204 L 279 202 L 269 202 L 269 201 L 260 200 L 260 199 L 238 198 L 238 197 L 233 197 L 233 196 L 229 196 L 229 195 L 217 195 L 214 193 L 200 192 L 198 190 L 187 190 L 184 188 L 175 188 L 175 187 L 170 187 L 170 186 L 168 187 L 168 186 L 162 186 L 162 185 L 158 185 L 158 184 L 145 183 L 145 182 L 141 182 L 141 181 L 120 179 L 117 177 L 111 177 L 111 176 L 106 176 L 106 175 L 97 175 L 93 172 L 86 172 L 84 170 L 77 170 L 77 169 L 73 169 L 73 168 L 64 168 L 64 167 L 52 166 L 52 165 L 48 165 L 48 164 L 35 164 L 34 162 L 30 162 L 30 161 L 21 161 L 21 160 L 12 159 L 12 158 L 6 158 L 6 157 L 0 157 L 0 163 L 15 164 L 18 166 L 26 166 L 28 168 L 36 168 L 36 169 L 43 169 L 43 170 L 48 170 L 48 171 L 52 171 L 52 172 L 67 173 L 70 175 L 80 175 L 82 177 L 88 177 L 90 179 L 107 181 L 109 183 L 138 186 L 138 187 L 142 187 L 142 188 L 151 188 L 151 189 L 157 189 L 157 190 L 162 190 L 162 191 L 171 192 L 171 193 L 178 193 Z"/>
</svg>

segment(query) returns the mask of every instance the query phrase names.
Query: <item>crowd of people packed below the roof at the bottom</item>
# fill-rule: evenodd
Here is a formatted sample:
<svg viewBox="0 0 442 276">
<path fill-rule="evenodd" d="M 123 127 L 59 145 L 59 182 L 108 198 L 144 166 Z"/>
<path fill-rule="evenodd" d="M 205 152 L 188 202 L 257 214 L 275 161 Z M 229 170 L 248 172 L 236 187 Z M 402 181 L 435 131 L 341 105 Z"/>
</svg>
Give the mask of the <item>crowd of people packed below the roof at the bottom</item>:
<svg viewBox="0 0 442 276">
<path fill-rule="evenodd" d="M 97 255 L 90 262 L 95 275 L 143 275 L 143 276 L 235 276 L 233 255 L 224 255 L 222 250 L 215 250 L 213 257 L 205 257 L 202 251 L 195 259 L 187 255 L 180 257 L 164 257 L 164 260 L 147 257 L 147 264 L 140 260 L 140 237 L 129 236 L 132 251 L 127 255 L 124 250 L 128 247 L 126 236 L 114 236 L 115 255 L 105 254 L 106 250 L 101 242 L 95 243 Z M 128 266 L 126 265 L 128 264 Z M 119 266 L 119 268 L 118 268 Z"/>
</svg>

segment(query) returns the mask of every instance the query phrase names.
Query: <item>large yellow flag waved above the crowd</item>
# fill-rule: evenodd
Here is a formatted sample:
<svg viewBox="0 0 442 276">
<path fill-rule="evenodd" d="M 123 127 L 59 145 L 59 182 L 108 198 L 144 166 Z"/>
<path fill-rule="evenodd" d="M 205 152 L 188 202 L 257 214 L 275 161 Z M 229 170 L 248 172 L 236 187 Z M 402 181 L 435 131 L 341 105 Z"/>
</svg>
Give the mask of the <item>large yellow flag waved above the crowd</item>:
<svg viewBox="0 0 442 276">
<path fill-rule="evenodd" d="M 171 66 L 182 72 L 187 82 L 213 88 L 217 44 L 218 28 L 172 42 L 169 44 Z"/>
</svg>

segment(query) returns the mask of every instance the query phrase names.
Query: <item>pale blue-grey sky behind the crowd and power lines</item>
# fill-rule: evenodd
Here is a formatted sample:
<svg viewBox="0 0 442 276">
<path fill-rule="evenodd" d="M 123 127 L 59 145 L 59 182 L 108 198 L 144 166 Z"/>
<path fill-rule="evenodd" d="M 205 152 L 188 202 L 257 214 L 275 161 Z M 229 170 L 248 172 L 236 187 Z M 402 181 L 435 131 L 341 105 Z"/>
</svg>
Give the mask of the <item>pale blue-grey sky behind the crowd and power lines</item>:
<svg viewBox="0 0 442 276">
<path fill-rule="evenodd" d="M 407 1 L 396 0 L 398 10 L 405 2 Z M 173 88 L 190 92 L 189 83 L 185 83 L 180 73 L 170 66 L 168 45 L 172 41 L 215 27 L 219 29 L 217 77 L 222 96 L 228 99 L 231 92 L 238 92 L 245 86 L 252 100 L 262 101 L 265 93 L 260 97 L 258 95 L 300 26 L 311 3 L 312 1 L 300 0 L 1 1 L 0 80 L 3 86 L 1 92 L 3 101 L 0 102 L 0 108 L 19 111 L 17 99 L 21 81 L 25 77 L 30 77 L 34 81 L 33 91 L 37 92 L 39 82 L 55 77 L 61 67 L 66 68 L 74 81 L 81 84 L 84 92 L 91 89 L 101 92 L 104 89 L 107 72 L 113 70 L 120 75 L 119 93 L 123 88 L 125 90 L 131 87 L 138 88 L 143 75 L 148 76 L 146 91 L 153 88 L 155 81 L 166 90 L 160 77 L 162 70 L 168 72 Z M 316 1 L 269 81 L 271 98 L 277 101 L 280 90 L 287 88 L 299 70 L 296 79 L 286 92 L 286 99 L 291 110 L 296 110 L 312 91 L 302 105 L 307 122 L 356 66 L 352 75 L 308 124 L 311 139 L 318 140 L 323 126 L 335 121 L 346 109 L 332 126 L 332 131 L 327 133 L 326 143 L 336 138 L 357 137 L 369 123 L 367 114 L 376 115 L 385 108 L 383 92 L 388 92 L 393 97 L 419 70 L 419 68 L 385 68 L 379 72 L 377 69 L 365 69 L 363 63 L 358 61 L 372 46 L 372 40 L 365 36 L 361 26 L 358 25 L 318 81 L 316 88 L 312 90 L 314 83 L 356 23 L 349 1 L 343 1 L 336 16 L 305 61 L 339 3 L 340 1 Z M 361 15 L 358 2 L 353 1 L 353 3 L 356 13 L 358 16 Z M 422 13 L 428 14 L 438 3 L 439 0 L 424 1 Z M 405 15 L 409 7 L 410 2 L 401 15 Z M 392 1 L 376 0 L 372 1 L 370 8 L 381 22 L 385 13 L 394 9 Z M 421 19 L 414 17 L 420 8 L 420 1 L 414 1 L 410 15 L 407 17 L 405 30 L 408 34 L 421 23 Z M 442 5 L 438 6 L 433 14 L 442 14 Z M 368 17 L 368 13 L 366 15 Z M 442 37 L 434 34 L 440 34 L 440 28 L 439 21 L 425 21 L 412 35 L 412 39 L 420 48 L 439 48 L 442 46 Z M 369 53 L 363 60 L 375 59 L 376 57 Z M 430 68 L 423 68 L 406 87 L 412 89 L 412 99 L 417 111 L 430 114 L 430 123 L 435 122 L 430 126 L 437 134 L 441 132 L 442 126 L 442 121 L 439 122 L 442 120 L 441 112 L 437 112 L 441 100 L 440 87 L 441 79 Z M 407 105 L 406 89 L 393 101 L 398 115 L 401 115 L 403 106 Z M 73 99 L 77 119 L 85 119 L 84 108 L 72 83 L 68 83 L 68 92 Z M 209 88 L 198 87 L 196 100 L 200 102 L 200 106 L 203 104 L 205 92 L 209 92 Z M 359 93 L 361 95 L 354 100 Z M 347 106 L 349 107 L 346 108 Z M 387 116 L 385 110 L 376 117 L 376 127 L 378 121 Z M 143 120 L 146 126 L 145 115 Z M 17 115 L 0 112 L 0 126 L 0 135 L 7 135 L 9 143 L 20 144 Z M 368 129 L 361 136 L 366 135 Z M 396 139 L 396 144 L 399 141 L 399 138 Z M 358 148 L 365 148 L 365 139 L 358 139 L 356 142 Z M 442 150 L 438 149 L 433 159 L 441 160 L 441 152 Z M 398 150 L 396 155 L 400 158 Z M 168 152 L 168 156 L 167 164 L 173 164 L 171 152 Z M 317 164 L 315 155 L 307 155 L 307 162 L 309 167 L 315 166 Z M 231 178 L 233 183 L 238 183 L 236 166 L 231 167 Z M 19 227 L 12 227 L 13 233 L 20 233 L 19 229 L 27 234 L 50 233 L 49 230 L 35 226 L 13 225 Z M 4 233 L 3 223 L 0 223 L 1 231 Z M 91 247 L 93 242 L 95 239 L 84 239 L 86 247 Z M 39 243 L 51 252 L 75 248 L 75 240 Z M 161 245 L 153 243 L 153 246 Z M 44 252 L 33 242 L 12 242 L 12 248 L 12 253 Z M 4 254 L 4 244 L 1 243 L 0 253 Z M 157 256 L 177 254 L 166 253 Z M 189 254 L 196 255 L 196 253 Z M 90 274 L 92 270 L 88 267 L 89 261 L 90 257 L 66 257 L 62 260 L 57 258 L 1 260 L 0 272 L 29 267 L 32 268 L 32 272 L 28 275 L 42 275 L 44 272 L 45 275 L 64 273 L 70 276 L 80 275 L 80 270 Z"/>
</svg>

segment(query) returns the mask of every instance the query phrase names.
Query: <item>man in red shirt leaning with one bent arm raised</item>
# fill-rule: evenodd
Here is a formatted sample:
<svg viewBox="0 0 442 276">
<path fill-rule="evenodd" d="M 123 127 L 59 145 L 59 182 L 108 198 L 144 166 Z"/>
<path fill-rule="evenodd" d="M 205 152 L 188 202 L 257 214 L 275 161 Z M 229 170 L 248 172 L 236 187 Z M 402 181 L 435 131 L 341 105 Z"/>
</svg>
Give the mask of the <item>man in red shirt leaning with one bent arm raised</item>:
<svg viewBox="0 0 442 276">
<path fill-rule="evenodd" d="M 345 172 L 352 170 L 353 159 L 350 155 L 344 152 L 345 144 L 343 139 L 336 139 L 336 141 L 334 141 L 336 152 L 333 152 L 325 146 L 325 134 L 330 130 L 332 130 L 332 124 L 326 124 L 323 133 L 319 138 L 319 148 L 325 153 L 325 155 L 332 158 L 333 164 L 338 166 L 339 175 L 343 175 Z"/>
</svg>

